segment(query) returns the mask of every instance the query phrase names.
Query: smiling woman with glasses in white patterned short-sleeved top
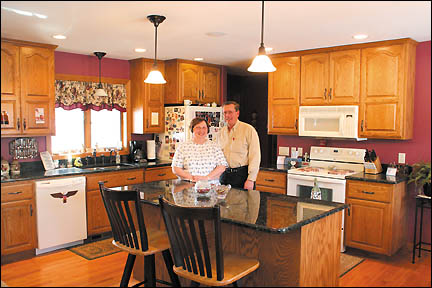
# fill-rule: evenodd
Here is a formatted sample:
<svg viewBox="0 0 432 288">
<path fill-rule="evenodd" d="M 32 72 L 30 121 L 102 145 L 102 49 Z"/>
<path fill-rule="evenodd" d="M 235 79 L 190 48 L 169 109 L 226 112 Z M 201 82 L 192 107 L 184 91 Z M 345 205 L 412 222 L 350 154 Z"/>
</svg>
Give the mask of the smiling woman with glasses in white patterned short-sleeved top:
<svg viewBox="0 0 432 288">
<path fill-rule="evenodd" d="M 180 143 L 174 154 L 173 172 L 189 181 L 212 180 L 218 183 L 219 176 L 228 167 L 220 147 L 207 139 L 209 125 L 206 120 L 194 118 L 191 121 L 192 140 Z"/>
</svg>

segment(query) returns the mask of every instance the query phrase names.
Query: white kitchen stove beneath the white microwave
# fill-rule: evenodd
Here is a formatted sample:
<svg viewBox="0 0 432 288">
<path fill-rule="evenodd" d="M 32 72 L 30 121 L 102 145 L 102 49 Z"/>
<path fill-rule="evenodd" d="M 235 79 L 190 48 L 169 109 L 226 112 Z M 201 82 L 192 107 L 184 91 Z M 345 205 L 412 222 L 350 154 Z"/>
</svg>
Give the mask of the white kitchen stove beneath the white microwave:
<svg viewBox="0 0 432 288">
<path fill-rule="evenodd" d="M 311 198 L 311 195 L 313 195 L 311 193 L 312 188 L 316 180 L 321 192 L 318 200 L 345 203 L 345 177 L 363 172 L 365 153 L 365 149 L 312 146 L 309 166 L 288 170 L 287 195 Z M 309 206 L 305 204 L 305 207 L 308 207 L 305 209 L 310 210 Z M 314 209 L 322 210 L 324 208 L 316 207 Z M 300 211 L 300 213 L 303 213 L 303 211 Z M 343 222 L 342 218 L 342 252 L 345 251 L 343 245 Z"/>
</svg>

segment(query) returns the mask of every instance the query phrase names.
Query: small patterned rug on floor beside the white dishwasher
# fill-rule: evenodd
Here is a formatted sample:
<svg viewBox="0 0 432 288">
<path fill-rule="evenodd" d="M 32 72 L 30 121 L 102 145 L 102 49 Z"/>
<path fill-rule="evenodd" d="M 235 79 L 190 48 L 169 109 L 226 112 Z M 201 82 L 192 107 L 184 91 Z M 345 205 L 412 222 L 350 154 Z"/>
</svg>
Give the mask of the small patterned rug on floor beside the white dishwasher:
<svg viewBox="0 0 432 288">
<path fill-rule="evenodd" d="M 112 240 L 113 238 L 108 238 L 67 249 L 87 260 L 93 260 L 122 251 L 112 244 Z"/>
</svg>

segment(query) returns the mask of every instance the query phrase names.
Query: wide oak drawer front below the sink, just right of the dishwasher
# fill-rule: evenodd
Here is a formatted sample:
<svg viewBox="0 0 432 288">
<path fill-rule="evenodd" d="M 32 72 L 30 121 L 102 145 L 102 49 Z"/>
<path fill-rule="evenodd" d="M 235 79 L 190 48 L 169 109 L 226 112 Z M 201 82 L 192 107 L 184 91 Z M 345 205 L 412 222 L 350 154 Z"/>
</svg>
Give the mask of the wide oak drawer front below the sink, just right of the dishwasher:
<svg viewBox="0 0 432 288">
<path fill-rule="evenodd" d="M 99 181 L 105 187 L 117 187 L 144 182 L 143 170 L 127 170 L 118 172 L 104 172 L 87 176 L 87 191 L 99 190 Z"/>
</svg>

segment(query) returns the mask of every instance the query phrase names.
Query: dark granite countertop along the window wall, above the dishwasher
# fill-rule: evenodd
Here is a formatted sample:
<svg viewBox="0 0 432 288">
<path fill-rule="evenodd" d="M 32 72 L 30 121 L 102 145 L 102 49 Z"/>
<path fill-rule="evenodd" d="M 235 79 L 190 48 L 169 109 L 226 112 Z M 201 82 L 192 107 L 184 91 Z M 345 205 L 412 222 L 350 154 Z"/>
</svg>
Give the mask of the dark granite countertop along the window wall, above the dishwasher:
<svg viewBox="0 0 432 288">
<path fill-rule="evenodd" d="M 44 179 L 50 177 L 63 177 L 63 176 L 76 176 L 82 174 L 93 174 L 93 173 L 101 173 L 101 172 L 110 172 L 110 171 L 123 171 L 123 170 L 132 170 L 132 169 L 140 169 L 140 168 L 151 168 L 151 167 L 163 167 L 163 166 L 171 166 L 171 161 L 156 161 L 156 162 L 148 162 L 148 163 L 122 163 L 120 165 L 111 164 L 110 166 L 98 166 L 98 167 L 88 167 L 88 168 L 57 168 L 54 170 L 45 171 L 41 167 L 35 166 L 35 169 L 29 170 L 21 170 L 21 173 L 17 176 L 9 176 L 1 178 L 1 183 L 9 183 L 9 182 L 17 182 L 17 181 L 26 181 L 26 180 L 36 180 L 36 179 Z"/>
</svg>

